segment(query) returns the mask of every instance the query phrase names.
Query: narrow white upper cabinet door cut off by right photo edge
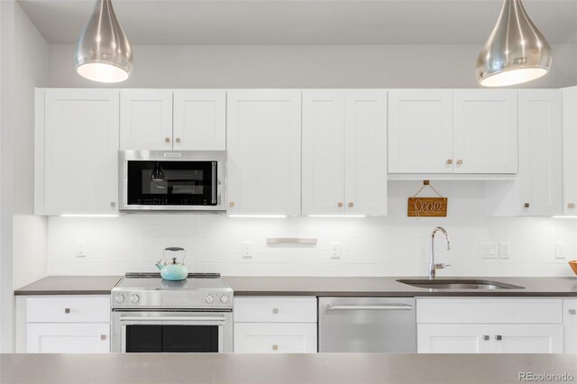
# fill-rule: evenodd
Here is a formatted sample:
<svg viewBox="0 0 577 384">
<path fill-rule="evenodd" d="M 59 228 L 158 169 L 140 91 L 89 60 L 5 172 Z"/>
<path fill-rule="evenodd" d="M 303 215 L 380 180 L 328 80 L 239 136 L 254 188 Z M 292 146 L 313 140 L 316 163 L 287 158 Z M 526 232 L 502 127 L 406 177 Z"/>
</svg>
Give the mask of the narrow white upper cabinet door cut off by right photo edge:
<svg viewBox="0 0 577 384">
<path fill-rule="evenodd" d="M 577 215 L 577 87 L 563 89 L 564 214 Z"/>
</svg>

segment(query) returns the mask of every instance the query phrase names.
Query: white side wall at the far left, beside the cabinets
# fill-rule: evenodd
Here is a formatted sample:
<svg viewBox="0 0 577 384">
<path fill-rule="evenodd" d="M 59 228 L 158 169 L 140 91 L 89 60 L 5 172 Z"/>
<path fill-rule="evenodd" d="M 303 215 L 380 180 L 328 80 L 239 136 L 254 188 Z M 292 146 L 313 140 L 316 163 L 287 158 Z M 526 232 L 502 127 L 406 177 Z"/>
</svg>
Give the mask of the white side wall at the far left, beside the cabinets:
<svg viewBox="0 0 577 384">
<path fill-rule="evenodd" d="M 12 0 L 2 6 L 0 133 L 1 351 L 11 352 L 14 288 L 46 274 L 47 220 L 32 215 L 33 92 L 48 79 L 48 43 Z"/>
</svg>

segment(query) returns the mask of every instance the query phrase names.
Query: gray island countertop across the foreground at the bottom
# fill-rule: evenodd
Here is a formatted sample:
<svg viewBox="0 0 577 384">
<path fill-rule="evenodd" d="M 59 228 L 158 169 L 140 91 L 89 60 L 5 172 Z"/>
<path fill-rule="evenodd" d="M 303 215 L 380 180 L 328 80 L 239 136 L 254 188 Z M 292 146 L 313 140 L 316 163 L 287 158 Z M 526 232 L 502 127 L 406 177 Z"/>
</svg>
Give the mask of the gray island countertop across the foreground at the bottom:
<svg viewBox="0 0 577 384">
<path fill-rule="evenodd" d="M 519 382 L 520 372 L 567 374 L 571 382 L 575 361 L 568 354 L 2 354 L 0 382 L 497 384 Z"/>
</svg>

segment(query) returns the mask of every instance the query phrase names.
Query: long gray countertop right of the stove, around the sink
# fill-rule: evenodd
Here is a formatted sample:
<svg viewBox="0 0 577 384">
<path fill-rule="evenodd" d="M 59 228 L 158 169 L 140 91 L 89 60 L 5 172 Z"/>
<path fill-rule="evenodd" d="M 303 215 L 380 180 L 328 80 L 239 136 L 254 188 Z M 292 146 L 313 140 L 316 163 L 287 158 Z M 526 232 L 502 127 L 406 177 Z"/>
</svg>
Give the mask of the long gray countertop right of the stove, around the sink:
<svg viewBox="0 0 577 384">
<path fill-rule="evenodd" d="M 298 277 L 224 277 L 234 296 L 500 296 L 500 297 L 574 297 L 577 277 L 572 278 L 447 278 L 482 279 L 508 283 L 523 289 L 426 289 L 399 283 L 398 279 L 418 278 L 298 278 Z M 443 278 L 439 278 L 443 279 Z"/>
</svg>

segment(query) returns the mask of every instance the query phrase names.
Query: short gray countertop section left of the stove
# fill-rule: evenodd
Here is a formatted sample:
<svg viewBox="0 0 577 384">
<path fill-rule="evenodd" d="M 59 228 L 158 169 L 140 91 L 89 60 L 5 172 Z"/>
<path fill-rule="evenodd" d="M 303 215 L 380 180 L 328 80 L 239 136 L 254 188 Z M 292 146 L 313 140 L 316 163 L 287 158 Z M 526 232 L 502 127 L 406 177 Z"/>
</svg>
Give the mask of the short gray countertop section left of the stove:
<svg viewBox="0 0 577 384">
<path fill-rule="evenodd" d="M 16 289 L 14 295 L 110 295 L 122 276 L 48 276 Z"/>
</svg>

